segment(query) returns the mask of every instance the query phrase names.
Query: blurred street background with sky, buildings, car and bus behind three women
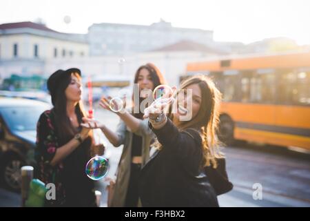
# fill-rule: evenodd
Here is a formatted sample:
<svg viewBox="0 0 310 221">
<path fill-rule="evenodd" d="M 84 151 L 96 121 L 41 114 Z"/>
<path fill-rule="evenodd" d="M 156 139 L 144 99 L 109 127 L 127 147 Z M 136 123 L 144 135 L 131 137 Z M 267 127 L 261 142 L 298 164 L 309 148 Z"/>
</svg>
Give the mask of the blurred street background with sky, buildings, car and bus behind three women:
<svg viewBox="0 0 310 221">
<path fill-rule="evenodd" d="M 80 68 L 88 104 L 132 91 L 155 64 L 169 86 L 202 73 L 223 93 L 220 131 L 234 190 L 220 206 L 310 206 L 310 2 L 37 1 L 0 3 L 0 206 L 20 206 L 20 167 L 33 164 L 46 80 Z M 107 142 L 114 175 L 121 148 Z M 262 199 L 254 197 L 262 190 Z M 101 206 L 106 206 L 105 183 Z"/>
</svg>

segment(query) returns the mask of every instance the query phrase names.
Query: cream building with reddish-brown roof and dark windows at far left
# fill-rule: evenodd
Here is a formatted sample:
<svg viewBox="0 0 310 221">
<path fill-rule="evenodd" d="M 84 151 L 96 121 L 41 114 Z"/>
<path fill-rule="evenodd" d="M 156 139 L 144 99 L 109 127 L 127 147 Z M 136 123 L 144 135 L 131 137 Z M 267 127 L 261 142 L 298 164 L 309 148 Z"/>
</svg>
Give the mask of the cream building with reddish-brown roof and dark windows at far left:
<svg viewBox="0 0 310 221">
<path fill-rule="evenodd" d="M 0 25 L 0 79 L 43 75 L 47 59 L 87 57 L 83 35 L 56 32 L 32 22 Z"/>
</svg>

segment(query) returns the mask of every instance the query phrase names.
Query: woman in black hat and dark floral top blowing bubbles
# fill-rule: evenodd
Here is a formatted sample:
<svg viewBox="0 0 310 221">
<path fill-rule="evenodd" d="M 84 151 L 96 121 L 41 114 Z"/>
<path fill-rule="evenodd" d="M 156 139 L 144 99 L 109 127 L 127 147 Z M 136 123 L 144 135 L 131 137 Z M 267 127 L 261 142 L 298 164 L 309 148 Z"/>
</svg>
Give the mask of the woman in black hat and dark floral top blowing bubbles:
<svg viewBox="0 0 310 221">
<path fill-rule="evenodd" d="M 85 175 L 92 136 L 82 128 L 81 71 L 57 70 L 48 79 L 54 108 L 37 124 L 38 178 L 56 186 L 56 199 L 47 206 L 96 206 L 94 182 Z"/>
</svg>

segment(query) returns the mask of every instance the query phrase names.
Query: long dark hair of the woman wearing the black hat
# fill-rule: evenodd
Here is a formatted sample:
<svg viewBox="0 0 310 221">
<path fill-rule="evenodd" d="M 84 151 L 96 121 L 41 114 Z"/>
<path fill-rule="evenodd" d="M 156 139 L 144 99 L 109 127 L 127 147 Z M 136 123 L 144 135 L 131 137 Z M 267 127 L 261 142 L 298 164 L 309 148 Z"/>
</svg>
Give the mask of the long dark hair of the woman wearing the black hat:
<svg viewBox="0 0 310 221">
<path fill-rule="evenodd" d="M 56 115 L 56 130 L 59 135 L 59 140 L 62 144 L 67 143 L 77 133 L 67 115 L 67 97 L 65 97 L 65 89 L 72 80 L 72 75 L 81 79 L 78 73 L 71 73 L 59 82 L 58 90 L 56 91 L 56 100 L 54 102 L 54 113 Z M 82 117 L 86 116 L 82 101 L 76 104 L 75 113 L 79 123 L 82 122 Z"/>
</svg>

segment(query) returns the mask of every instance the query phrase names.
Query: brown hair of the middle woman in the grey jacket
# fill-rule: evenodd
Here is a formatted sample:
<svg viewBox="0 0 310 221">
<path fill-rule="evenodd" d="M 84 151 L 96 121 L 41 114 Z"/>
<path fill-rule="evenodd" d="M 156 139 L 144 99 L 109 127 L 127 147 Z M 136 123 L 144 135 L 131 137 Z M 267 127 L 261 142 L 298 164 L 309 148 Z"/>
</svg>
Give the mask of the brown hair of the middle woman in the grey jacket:
<svg viewBox="0 0 310 221">
<path fill-rule="evenodd" d="M 136 70 L 136 74 L 134 75 L 134 84 L 138 84 L 138 77 L 142 69 L 146 69 L 149 72 L 149 75 L 153 82 L 152 90 L 154 90 L 154 88 L 156 88 L 156 86 L 158 85 L 166 84 L 165 78 L 161 74 L 161 71 L 152 63 L 147 63 L 143 66 L 140 66 L 138 70 Z M 145 98 L 139 96 L 139 107 L 143 99 Z M 134 104 L 134 93 L 132 93 L 132 104 Z M 134 117 L 137 117 L 139 119 L 143 118 L 143 113 L 141 113 L 140 108 L 139 108 L 139 113 L 133 113 L 133 115 Z"/>
</svg>

